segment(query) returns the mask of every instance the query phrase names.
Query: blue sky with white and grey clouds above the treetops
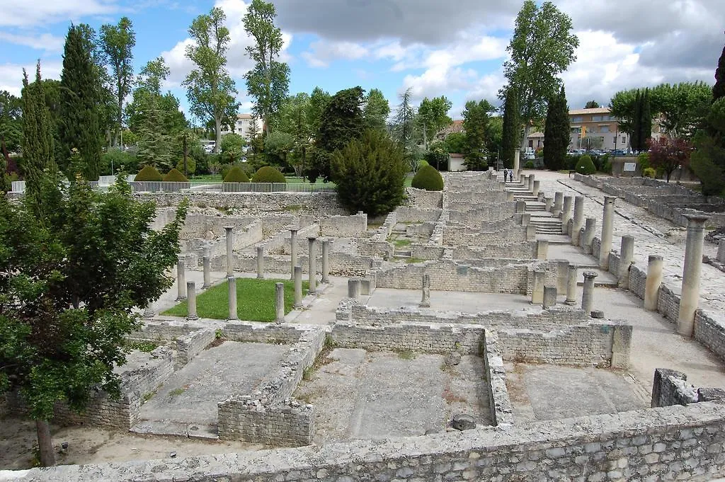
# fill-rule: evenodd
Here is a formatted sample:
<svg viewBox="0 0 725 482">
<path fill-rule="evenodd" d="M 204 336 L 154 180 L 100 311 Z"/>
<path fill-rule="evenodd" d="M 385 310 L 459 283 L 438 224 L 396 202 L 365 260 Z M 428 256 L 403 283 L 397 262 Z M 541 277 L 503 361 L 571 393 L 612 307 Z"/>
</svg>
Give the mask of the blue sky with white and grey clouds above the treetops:
<svg viewBox="0 0 725 482">
<path fill-rule="evenodd" d="M 99 28 L 127 16 L 136 30 L 136 72 L 162 55 L 167 83 L 186 108 L 181 81 L 191 70 L 183 55 L 188 25 L 222 7 L 231 30 L 228 67 L 242 110 L 249 98 L 242 75 L 250 67 L 241 18 L 250 0 L 4 0 L 0 14 L 0 90 L 20 94 L 22 68 L 41 59 L 43 77 L 59 78 L 71 22 Z M 320 86 L 380 88 L 391 104 L 405 88 L 415 99 L 446 95 L 450 115 L 465 101 L 495 105 L 502 62 L 520 0 L 273 0 L 283 31 L 290 93 Z M 725 43 L 725 0 L 554 0 L 579 36 L 577 60 L 563 80 L 571 108 L 589 99 L 608 104 L 623 88 L 662 82 L 713 83 Z"/>
</svg>

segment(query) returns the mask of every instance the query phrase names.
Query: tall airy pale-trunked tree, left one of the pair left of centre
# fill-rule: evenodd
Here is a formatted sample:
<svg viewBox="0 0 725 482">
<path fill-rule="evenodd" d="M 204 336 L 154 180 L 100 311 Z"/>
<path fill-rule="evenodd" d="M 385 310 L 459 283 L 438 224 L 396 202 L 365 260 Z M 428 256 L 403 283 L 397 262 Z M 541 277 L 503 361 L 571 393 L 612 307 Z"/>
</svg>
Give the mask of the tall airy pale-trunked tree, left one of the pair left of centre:
<svg viewBox="0 0 725 482">
<path fill-rule="evenodd" d="M 214 122 L 216 144 L 219 152 L 224 119 L 236 119 L 239 103 L 234 99 L 236 88 L 226 69 L 226 52 L 229 48 L 229 29 L 225 27 L 226 15 L 219 7 L 206 15 L 199 15 L 188 28 L 191 45 L 186 46 L 186 57 L 195 68 L 183 81 L 186 87 L 189 110 L 204 121 Z"/>
</svg>

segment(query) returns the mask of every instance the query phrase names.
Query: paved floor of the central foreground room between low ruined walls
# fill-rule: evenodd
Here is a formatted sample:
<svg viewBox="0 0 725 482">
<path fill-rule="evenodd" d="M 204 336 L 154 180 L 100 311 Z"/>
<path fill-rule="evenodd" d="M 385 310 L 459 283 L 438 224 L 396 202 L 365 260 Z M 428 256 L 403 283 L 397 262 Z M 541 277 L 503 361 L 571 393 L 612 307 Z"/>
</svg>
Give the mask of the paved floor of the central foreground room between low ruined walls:
<svg viewBox="0 0 725 482">
<path fill-rule="evenodd" d="M 294 396 L 315 405 L 315 443 L 416 436 L 445 430 L 455 413 L 489 425 L 484 363 L 465 356 L 334 349 Z M 345 396 L 340 396 L 345 394 Z"/>
</svg>

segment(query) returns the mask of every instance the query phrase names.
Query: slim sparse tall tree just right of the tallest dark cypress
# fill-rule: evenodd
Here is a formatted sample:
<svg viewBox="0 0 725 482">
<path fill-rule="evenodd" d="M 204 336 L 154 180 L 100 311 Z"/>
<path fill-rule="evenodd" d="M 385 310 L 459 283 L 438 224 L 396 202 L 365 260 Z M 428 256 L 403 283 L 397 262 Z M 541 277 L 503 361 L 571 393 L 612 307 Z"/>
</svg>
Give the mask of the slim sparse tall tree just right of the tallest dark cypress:
<svg viewBox="0 0 725 482">
<path fill-rule="evenodd" d="M 113 94 L 117 105 L 117 130 L 114 144 L 118 145 L 123 132 L 123 100 L 130 94 L 133 84 L 133 47 L 136 33 L 128 17 L 122 17 L 117 25 L 101 25 L 99 48 L 113 72 Z"/>
</svg>

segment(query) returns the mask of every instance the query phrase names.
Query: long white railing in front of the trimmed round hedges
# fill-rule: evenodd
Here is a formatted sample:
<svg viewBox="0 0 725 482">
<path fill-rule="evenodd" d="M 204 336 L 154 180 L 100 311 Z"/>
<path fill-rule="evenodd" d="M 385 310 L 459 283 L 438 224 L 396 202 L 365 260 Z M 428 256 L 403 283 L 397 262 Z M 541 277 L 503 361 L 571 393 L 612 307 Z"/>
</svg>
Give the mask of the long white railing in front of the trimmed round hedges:
<svg viewBox="0 0 725 482">
<path fill-rule="evenodd" d="M 132 176 L 128 179 L 131 191 L 135 193 L 175 193 L 175 192 L 202 192 L 202 193 L 335 193 L 336 186 L 331 184 L 309 183 L 222 183 L 220 181 L 135 181 Z M 91 181 L 94 191 L 108 191 L 115 182 L 115 176 L 101 176 L 99 180 Z M 12 192 L 21 194 L 25 192 L 25 181 L 12 181 Z"/>
</svg>

